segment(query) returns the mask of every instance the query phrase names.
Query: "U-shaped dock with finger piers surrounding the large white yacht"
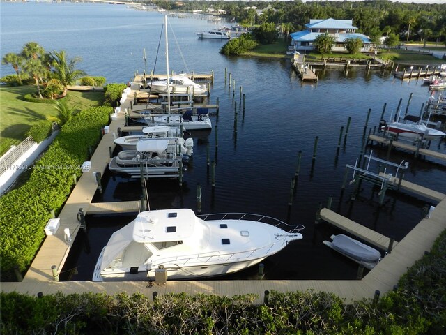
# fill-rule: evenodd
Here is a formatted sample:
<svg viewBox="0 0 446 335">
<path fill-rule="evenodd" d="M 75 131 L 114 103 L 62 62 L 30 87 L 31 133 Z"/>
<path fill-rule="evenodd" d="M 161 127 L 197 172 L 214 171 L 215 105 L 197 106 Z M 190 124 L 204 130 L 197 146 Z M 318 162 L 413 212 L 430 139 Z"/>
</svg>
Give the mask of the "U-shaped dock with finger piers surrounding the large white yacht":
<svg viewBox="0 0 446 335">
<path fill-rule="evenodd" d="M 82 174 L 82 177 L 79 178 L 77 185 L 66 201 L 59 214 L 61 223 L 59 230 L 57 230 L 56 234 L 45 238 L 36 258 L 24 276 L 24 280 L 15 283 L 1 283 L 3 292 L 20 292 L 29 295 L 37 295 L 39 292 L 42 292 L 43 295 L 56 292 L 63 292 L 63 294 L 67 295 L 82 292 L 102 292 L 107 295 L 115 295 L 125 292 L 128 295 L 132 295 L 140 292 L 147 296 L 152 295 L 155 291 L 160 295 L 169 292 L 185 292 L 191 295 L 202 292 L 230 297 L 252 293 L 257 295 L 254 303 L 261 304 L 266 290 L 276 290 L 277 292 L 314 290 L 316 292 L 332 292 L 341 297 L 341 299 L 345 299 L 348 303 L 372 298 L 376 290 L 379 290 L 381 294 L 393 290 L 394 285 L 406 273 L 408 267 L 411 267 L 416 260 L 422 258 L 424 252 L 431 249 L 433 241 L 437 239 L 440 232 L 446 229 L 446 198 L 440 199 L 442 195 L 437 195 L 440 202 L 432 211 L 430 217 L 423 218 L 401 241 L 398 243 L 394 241 L 392 252 L 386 255 L 362 280 L 225 281 L 220 279 L 215 281 L 167 281 L 165 285 L 149 285 L 147 281 L 55 281 L 79 233 L 80 223 L 77 220 L 77 214 L 80 208 L 86 214 L 132 213 L 139 211 L 140 204 L 138 201 L 92 202 L 98 188 L 93 172 L 104 174 L 111 159 L 109 148 L 114 149 L 115 147 L 113 133 L 116 135 L 118 128 L 124 128 L 125 115 L 123 111 L 125 108 L 130 109 L 132 98 L 130 94 L 121 103 L 121 112 L 118 113 L 118 118 L 111 122 L 109 133 L 102 137 L 100 144 L 91 157 L 91 169 L 89 172 Z M 374 140 L 378 141 L 377 139 Z M 383 250 L 387 250 L 390 245 L 391 240 L 389 237 L 384 237 L 378 234 L 378 232 L 362 226 L 360 223 L 355 223 L 334 213 L 334 211 L 323 209 L 321 218 Z M 64 235 L 65 228 L 70 229 L 70 241 L 66 240 Z M 305 269 L 302 269 L 302 271 L 305 271 Z"/>
</svg>

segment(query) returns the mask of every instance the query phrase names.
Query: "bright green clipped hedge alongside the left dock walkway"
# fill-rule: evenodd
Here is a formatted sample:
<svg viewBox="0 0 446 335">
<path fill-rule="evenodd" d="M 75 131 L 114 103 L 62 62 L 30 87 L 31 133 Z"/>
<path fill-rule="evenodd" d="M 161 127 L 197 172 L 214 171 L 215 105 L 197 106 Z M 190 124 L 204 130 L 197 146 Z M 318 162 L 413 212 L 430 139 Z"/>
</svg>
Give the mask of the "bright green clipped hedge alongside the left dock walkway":
<svg viewBox="0 0 446 335">
<path fill-rule="evenodd" d="M 82 174 L 88 147 L 98 143 L 100 128 L 108 123 L 110 107 L 92 107 L 68 121 L 35 165 L 26 184 L 0 198 L 1 276 L 18 265 L 26 269 L 45 238 L 50 211 L 59 213 L 68 198 L 73 174 Z M 10 274 L 10 272 L 9 272 Z"/>
</svg>

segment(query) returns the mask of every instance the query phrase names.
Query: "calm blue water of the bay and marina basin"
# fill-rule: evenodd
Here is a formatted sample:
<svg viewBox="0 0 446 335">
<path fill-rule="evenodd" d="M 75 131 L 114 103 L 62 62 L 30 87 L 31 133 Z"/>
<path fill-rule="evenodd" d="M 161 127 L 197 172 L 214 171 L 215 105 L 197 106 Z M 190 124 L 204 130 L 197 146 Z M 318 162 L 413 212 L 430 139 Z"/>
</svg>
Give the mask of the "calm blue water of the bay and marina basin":
<svg viewBox="0 0 446 335">
<path fill-rule="evenodd" d="M 192 16 L 192 15 L 191 15 Z M 333 197 L 332 209 L 387 236 L 403 238 L 422 217 L 429 200 L 410 193 L 387 192 L 385 204 L 378 204 L 378 190 L 363 183 L 360 196 L 351 200 L 351 186 L 341 192 L 346 164 L 354 165 L 360 154 L 361 138 L 371 109 L 369 128 L 378 124 L 384 103 L 385 119 L 403 99 L 409 114 L 418 114 L 429 91 L 421 82 L 401 82 L 379 72 L 362 70 L 326 71 L 317 84 L 301 84 L 290 69 L 289 61 L 270 61 L 224 57 L 218 53 L 220 41 L 199 40 L 195 31 L 213 28 L 199 18 L 169 17 L 170 68 L 176 72 L 215 72 L 210 103 L 220 99 L 220 114 L 213 116 L 215 128 L 194 133 L 194 156 L 180 188 L 175 181 L 149 180 L 151 209 L 188 207 L 197 211 L 197 184 L 203 191 L 202 213 L 243 211 L 265 214 L 290 223 L 305 225 L 302 241 L 293 242 L 281 253 L 268 258 L 266 278 L 341 279 L 355 278 L 357 265 L 322 241 L 339 233 L 330 225 L 314 224 L 319 203 Z M 103 75 L 107 82 L 128 82 L 135 71 L 155 66 L 160 41 L 162 15 L 117 5 L 80 3 L 1 3 L 1 55 L 20 52 L 33 40 L 45 50 L 66 50 L 70 57 L 82 57 L 78 67 L 90 75 Z M 175 43 L 178 42 L 178 46 Z M 183 61 L 184 60 L 184 61 Z M 224 68 L 236 80 L 225 84 Z M 156 62 L 156 73 L 165 69 L 164 46 Z M 12 68 L 1 67 L 1 75 Z M 245 112 L 240 110 L 240 86 L 246 96 Z M 234 132 L 234 105 L 238 110 L 237 133 Z M 344 145 L 337 152 L 341 126 L 351 126 Z M 312 161 L 318 136 L 316 160 Z M 442 152 L 445 142 L 433 142 Z M 385 158 L 386 149 L 369 148 Z M 298 152 L 302 151 L 298 187 L 289 207 L 291 178 L 295 174 Z M 206 157 L 216 162 L 216 185 L 210 186 Z M 392 161 L 408 161 L 406 180 L 446 192 L 446 166 L 433 158 L 415 160 L 397 151 Z M 348 177 L 352 177 L 349 172 Z M 137 200 L 139 181 L 106 174 L 105 192 L 95 201 Z M 64 274 L 77 268 L 72 280 L 90 280 L 95 261 L 109 236 L 134 215 L 88 216 L 87 236 L 79 234 L 69 256 Z M 256 269 L 248 269 L 226 278 L 249 278 Z"/>
</svg>

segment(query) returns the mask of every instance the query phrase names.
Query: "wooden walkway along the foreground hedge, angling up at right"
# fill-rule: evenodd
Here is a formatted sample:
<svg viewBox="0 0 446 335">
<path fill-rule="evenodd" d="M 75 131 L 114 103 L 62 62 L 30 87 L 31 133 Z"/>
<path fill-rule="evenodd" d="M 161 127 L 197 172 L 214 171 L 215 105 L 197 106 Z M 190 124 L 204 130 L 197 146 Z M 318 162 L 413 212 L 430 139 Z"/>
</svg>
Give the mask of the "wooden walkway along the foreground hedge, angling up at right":
<svg viewBox="0 0 446 335">
<path fill-rule="evenodd" d="M 406 273 L 416 260 L 422 258 L 425 251 L 429 251 L 433 241 L 440 232 L 446 229 L 446 200 L 440 202 L 431 214 L 430 218 L 424 218 L 406 237 L 398 244 L 394 243 L 392 252 L 381 260 L 374 269 L 362 278 L 362 280 L 344 281 L 167 281 L 166 285 L 148 285 L 146 281 L 121 281 L 121 282 L 54 282 L 44 276 L 41 280 L 24 281 L 22 283 L 1 283 L 3 292 L 20 292 L 28 295 L 43 295 L 63 292 L 64 294 L 82 292 L 104 292 L 107 295 L 115 295 L 125 292 L 128 295 L 133 293 L 143 293 L 151 296 L 153 292 L 159 295 L 167 293 L 185 292 L 195 294 L 198 292 L 214 295 L 243 295 L 253 293 L 257 295 L 255 304 L 263 302 L 263 295 L 266 290 L 276 290 L 277 292 L 309 291 L 332 292 L 346 303 L 359 301 L 361 299 L 371 299 L 376 290 L 382 295 L 393 290 L 399 278 Z M 386 241 L 380 244 L 385 246 Z M 305 269 L 302 269 L 305 271 Z"/>
</svg>

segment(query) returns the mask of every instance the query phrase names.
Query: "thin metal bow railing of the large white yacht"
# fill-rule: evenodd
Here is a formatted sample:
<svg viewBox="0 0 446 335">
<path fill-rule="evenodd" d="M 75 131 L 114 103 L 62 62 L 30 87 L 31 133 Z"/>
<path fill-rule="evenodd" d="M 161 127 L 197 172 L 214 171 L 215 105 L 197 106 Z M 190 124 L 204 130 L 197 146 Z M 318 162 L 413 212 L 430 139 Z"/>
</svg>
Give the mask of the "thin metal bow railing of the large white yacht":
<svg viewBox="0 0 446 335">
<path fill-rule="evenodd" d="M 215 213 L 215 214 L 201 214 L 197 215 L 202 220 L 249 220 L 261 223 L 268 223 L 274 225 L 277 228 L 285 230 L 289 234 L 297 234 L 300 230 L 304 229 L 303 225 L 291 225 L 278 218 L 272 218 L 271 216 L 261 214 L 249 214 L 249 213 Z"/>
</svg>

